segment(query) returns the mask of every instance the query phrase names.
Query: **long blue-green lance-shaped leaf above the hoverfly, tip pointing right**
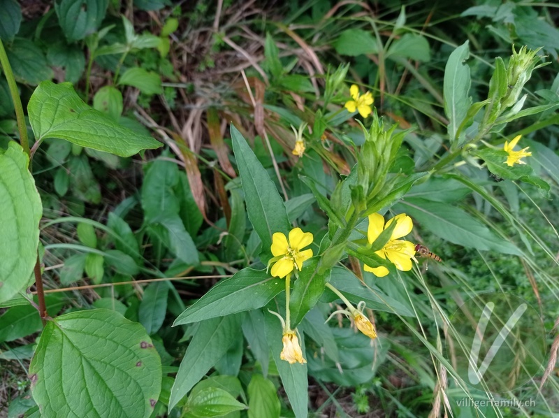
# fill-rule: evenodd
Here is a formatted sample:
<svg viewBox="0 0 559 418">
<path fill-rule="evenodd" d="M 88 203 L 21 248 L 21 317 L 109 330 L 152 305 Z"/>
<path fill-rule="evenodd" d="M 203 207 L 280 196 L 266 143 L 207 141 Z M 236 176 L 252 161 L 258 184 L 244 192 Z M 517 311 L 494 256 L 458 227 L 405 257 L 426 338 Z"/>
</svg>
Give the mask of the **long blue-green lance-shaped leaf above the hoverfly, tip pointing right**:
<svg viewBox="0 0 559 418">
<path fill-rule="evenodd" d="M 447 203 L 423 199 L 407 199 L 398 203 L 398 211 L 406 212 L 436 236 L 453 244 L 477 250 L 494 250 L 504 254 L 521 255 L 521 250 L 507 240 L 498 238 L 484 224 L 462 209 Z"/>
</svg>

